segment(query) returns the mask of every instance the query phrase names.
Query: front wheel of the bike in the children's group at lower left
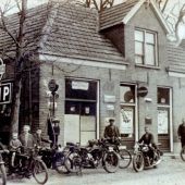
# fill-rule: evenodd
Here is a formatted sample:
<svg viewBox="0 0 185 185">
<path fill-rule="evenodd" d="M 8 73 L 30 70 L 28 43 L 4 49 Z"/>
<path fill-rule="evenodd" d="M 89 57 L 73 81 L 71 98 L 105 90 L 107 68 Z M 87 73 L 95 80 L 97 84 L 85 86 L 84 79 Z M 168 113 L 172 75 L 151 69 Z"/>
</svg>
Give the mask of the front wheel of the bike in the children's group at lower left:
<svg viewBox="0 0 185 185">
<path fill-rule="evenodd" d="M 38 184 L 45 184 L 48 181 L 48 170 L 42 160 L 34 161 L 33 176 Z"/>
</svg>

